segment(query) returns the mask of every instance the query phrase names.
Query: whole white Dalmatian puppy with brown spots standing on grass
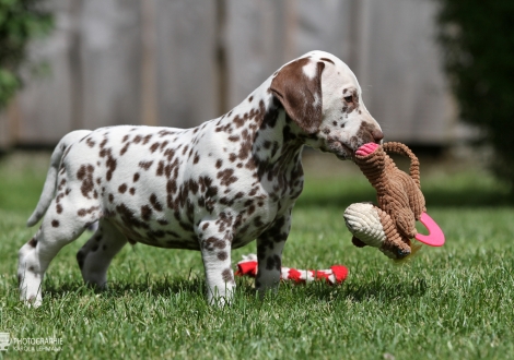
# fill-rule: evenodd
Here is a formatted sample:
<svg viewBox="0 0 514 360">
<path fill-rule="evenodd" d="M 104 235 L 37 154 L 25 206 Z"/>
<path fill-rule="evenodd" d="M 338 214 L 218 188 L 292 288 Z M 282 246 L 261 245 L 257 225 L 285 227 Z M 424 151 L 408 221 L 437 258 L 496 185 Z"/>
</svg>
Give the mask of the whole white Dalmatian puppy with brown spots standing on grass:
<svg viewBox="0 0 514 360">
<path fill-rule="evenodd" d="M 209 302 L 225 303 L 235 286 L 231 249 L 256 239 L 256 288 L 276 289 L 303 188 L 303 146 L 349 159 L 382 137 L 351 70 L 322 51 L 287 63 L 229 113 L 197 128 L 69 133 L 27 223 L 46 212 L 19 253 L 21 299 L 40 304 L 49 263 L 94 221 L 97 231 L 77 254 L 86 283 L 105 286 L 127 242 L 198 250 Z"/>
</svg>

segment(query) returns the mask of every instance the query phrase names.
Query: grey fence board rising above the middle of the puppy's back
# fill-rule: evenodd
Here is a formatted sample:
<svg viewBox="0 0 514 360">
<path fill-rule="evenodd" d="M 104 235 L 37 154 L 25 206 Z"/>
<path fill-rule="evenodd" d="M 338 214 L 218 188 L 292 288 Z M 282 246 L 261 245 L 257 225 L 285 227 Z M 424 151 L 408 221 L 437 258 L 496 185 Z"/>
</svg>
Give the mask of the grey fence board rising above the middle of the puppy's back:
<svg viewBox="0 0 514 360">
<path fill-rule="evenodd" d="M 220 116 L 215 2 L 157 2 L 160 124 L 189 128 Z"/>
</svg>

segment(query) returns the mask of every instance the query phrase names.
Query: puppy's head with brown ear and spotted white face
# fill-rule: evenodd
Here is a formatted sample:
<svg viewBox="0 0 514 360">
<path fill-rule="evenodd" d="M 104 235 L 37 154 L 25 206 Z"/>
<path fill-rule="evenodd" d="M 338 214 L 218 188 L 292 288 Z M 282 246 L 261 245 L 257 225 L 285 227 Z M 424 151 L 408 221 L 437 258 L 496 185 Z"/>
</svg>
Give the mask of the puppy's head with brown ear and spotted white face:
<svg viewBox="0 0 514 360">
<path fill-rule="evenodd" d="M 335 56 L 312 51 L 283 65 L 270 91 L 300 127 L 305 144 L 350 159 L 365 143 L 381 143 L 355 75 Z"/>
</svg>

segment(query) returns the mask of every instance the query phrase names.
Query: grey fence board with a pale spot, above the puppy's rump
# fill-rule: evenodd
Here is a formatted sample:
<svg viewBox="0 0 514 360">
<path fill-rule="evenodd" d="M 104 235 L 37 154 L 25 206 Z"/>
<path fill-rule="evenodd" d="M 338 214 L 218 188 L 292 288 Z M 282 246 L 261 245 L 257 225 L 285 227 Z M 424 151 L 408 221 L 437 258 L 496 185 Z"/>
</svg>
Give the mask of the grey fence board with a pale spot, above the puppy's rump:
<svg viewBox="0 0 514 360">
<path fill-rule="evenodd" d="M 86 0 L 83 2 L 81 19 L 81 127 L 94 129 L 110 124 L 140 123 L 139 1 Z"/>
</svg>

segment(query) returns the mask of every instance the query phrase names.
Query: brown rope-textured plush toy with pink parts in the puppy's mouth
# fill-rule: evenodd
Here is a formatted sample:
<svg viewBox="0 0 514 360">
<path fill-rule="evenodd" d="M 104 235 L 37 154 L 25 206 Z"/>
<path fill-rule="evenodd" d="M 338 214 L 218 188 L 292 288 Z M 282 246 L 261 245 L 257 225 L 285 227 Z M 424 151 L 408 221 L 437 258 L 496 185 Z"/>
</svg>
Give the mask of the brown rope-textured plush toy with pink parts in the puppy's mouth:
<svg viewBox="0 0 514 360">
<path fill-rule="evenodd" d="M 410 176 L 399 170 L 386 152 L 410 158 Z M 417 239 L 432 247 L 444 244 L 444 233 L 427 214 L 421 192 L 419 160 L 409 147 L 401 143 L 362 145 L 354 157 L 355 164 L 376 190 L 378 206 L 355 203 L 344 211 L 344 221 L 353 235 L 354 245 L 378 248 L 386 256 L 401 260 L 421 247 Z M 416 221 L 420 220 L 429 235 L 419 233 Z"/>
</svg>

